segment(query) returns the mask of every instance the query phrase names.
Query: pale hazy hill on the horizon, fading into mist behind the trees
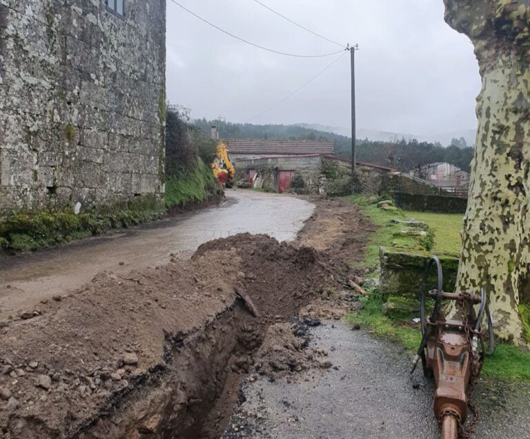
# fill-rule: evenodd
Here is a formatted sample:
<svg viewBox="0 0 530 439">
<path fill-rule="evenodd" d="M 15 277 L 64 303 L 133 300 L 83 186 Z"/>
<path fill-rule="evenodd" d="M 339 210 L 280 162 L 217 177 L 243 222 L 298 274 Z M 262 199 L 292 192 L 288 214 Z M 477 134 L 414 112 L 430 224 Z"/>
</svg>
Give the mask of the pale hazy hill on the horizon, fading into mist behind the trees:
<svg viewBox="0 0 530 439">
<path fill-rule="evenodd" d="M 341 136 L 351 136 L 351 131 L 346 127 L 332 127 L 328 125 L 320 125 L 318 123 L 295 123 L 296 126 L 304 127 L 309 130 L 317 130 L 323 132 L 331 132 L 334 134 L 339 134 Z M 377 130 L 366 130 L 360 128 L 357 130 L 357 139 L 368 139 L 373 142 L 389 142 L 397 139 L 412 140 L 416 139 L 418 142 L 429 142 L 436 143 L 440 142 L 442 146 L 447 146 L 451 144 L 452 139 L 460 139 L 463 137 L 466 139 L 466 142 L 469 146 L 475 145 L 475 136 L 476 129 L 471 128 L 469 130 L 464 130 L 462 132 L 449 132 L 444 134 L 433 134 L 432 136 L 418 136 L 415 134 L 404 134 L 400 132 L 387 132 L 387 131 L 377 131 Z"/>
</svg>

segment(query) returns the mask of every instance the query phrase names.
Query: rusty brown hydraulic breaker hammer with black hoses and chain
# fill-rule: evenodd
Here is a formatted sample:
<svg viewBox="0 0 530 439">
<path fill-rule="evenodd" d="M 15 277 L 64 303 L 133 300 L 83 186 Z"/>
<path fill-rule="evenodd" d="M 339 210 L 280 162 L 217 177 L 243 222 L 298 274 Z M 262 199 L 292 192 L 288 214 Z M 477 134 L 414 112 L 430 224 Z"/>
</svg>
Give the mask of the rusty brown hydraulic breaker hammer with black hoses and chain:
<svg viewBox="0 0 530 439">
<path fill-rule="evenodd" d="M 429 289 L 429 274 L 435 268 L 436 285 Z M 442 439 L 469 438 L 478 422 L 478 410 L 471 403 L 473 385 L 480 374 L 484 356 L 493 353 L 493 325 L 487 306 L 484 288 L 480 295 L 443 291 L 442 265 L 436 257 L 426 265 L 420 292 L 420 323 L 422 342 L 413 360 L 411 374 L 422 360 L 426 377 L 434 378 L 434 414 L 441 427 Z M 433 301 L 433 309 L 426 315 L 427 300 Z M 446 318 L 442 300 L 456 301 L 455 318 Z M 475 307 L 478 311 L 475 312 Z M 488 331 L 483 320 L 487 320 Z M 487 337 L 486 337 L 487 336 Z M 484 338 L 488 338 L 487 348 Z M 468 409 L 473 418 L 464 428 Z"/>
</svg>

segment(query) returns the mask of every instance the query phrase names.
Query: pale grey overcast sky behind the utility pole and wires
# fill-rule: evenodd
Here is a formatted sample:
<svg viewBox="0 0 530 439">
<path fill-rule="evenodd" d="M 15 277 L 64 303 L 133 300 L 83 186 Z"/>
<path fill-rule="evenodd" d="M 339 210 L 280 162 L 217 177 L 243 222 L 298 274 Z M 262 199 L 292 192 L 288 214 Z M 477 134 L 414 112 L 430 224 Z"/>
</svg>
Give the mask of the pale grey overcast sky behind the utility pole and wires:
<svg viewBox="0 0 530 439">
<path fill-rule="evenodd" d="M 177 0 L 221 28 L 274 50 L 340 50 L 254 0 Z M 261 0 L 329 39 L 358 43 L 357 127 L 440 134 L 476 125 L 478 64 L 444 23 L 442 0 Z M 167 95 L 193 117 L 246 122 L 339 55 L 284 57 L 237 41 L 167 2 Z M 349 54 L 253 123 L 350 126 Z"/>
</svg>

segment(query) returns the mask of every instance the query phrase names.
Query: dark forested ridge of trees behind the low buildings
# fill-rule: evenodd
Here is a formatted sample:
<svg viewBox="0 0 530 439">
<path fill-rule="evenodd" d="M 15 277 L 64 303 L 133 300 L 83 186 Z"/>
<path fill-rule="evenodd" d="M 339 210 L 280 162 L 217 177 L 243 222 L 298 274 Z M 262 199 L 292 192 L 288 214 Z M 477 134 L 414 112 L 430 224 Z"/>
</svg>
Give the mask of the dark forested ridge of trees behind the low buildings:
<svg viewBox="0 0 530 439">
<path fill-rule="evenodd" d="M 212 125 L 217 126 L 222 139 L 288 139 L 288 140 L 331 140 L 335 155 L 351 158 L 351 138 L 332 132 L 323 132 L 297 125 L 254 125 L 196 119 L 194 125 L 209 133 Z M 401 172 L 419 170 L 435 162 L 447 162 L 469 172 L 473 147 L 464 139 L 453 139 L 451 145 L 419 142 L 415 139 L 392 139 L 389 142 L 357 141 L 357 161 L 374 165 L 394 167 Z"/>
</svg>

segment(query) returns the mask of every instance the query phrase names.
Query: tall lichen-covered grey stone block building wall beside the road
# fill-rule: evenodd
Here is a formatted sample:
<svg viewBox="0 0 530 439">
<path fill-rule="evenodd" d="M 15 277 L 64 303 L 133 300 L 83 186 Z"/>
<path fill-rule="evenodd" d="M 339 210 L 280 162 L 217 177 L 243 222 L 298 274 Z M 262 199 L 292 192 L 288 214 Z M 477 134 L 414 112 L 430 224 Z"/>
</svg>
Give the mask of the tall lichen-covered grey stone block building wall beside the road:
<svg viewBox="0 0 530 439">
<path fill-rule="evenodd" d="M 164 193 L 166 0 L 0 0 L 0 216 Z"/>
</svg>

